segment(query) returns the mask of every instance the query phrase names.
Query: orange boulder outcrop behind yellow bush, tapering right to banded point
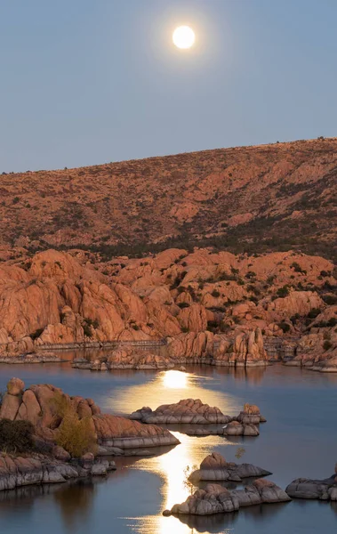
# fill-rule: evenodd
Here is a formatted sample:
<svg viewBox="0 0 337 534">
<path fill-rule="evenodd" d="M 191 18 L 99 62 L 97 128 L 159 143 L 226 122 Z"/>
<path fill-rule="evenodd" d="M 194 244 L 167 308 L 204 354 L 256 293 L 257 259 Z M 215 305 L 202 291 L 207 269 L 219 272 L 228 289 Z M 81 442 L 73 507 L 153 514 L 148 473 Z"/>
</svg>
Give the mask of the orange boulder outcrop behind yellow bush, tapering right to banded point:
<svg viewBox="0 0 337 534">
<path fill-rule="evenodd" d="M 0 418 L 29 421 L 35 426 L 37 436 L 54 444 L 62 422 L 60 406 L 71 406 L 79 419 L 87 417 L 90 420 L 99 454 L 121 454 L 126 449 L 179 443 L 172 433 L 159 426 L 142 425 L 124 417 L 101 414 L 100 407 L 92 399 L 70 397 L 53 385 L 31 385 L 24 390 L 24 384 L 18 378 L 12 378 L 8 384 Z"/>
</svg>

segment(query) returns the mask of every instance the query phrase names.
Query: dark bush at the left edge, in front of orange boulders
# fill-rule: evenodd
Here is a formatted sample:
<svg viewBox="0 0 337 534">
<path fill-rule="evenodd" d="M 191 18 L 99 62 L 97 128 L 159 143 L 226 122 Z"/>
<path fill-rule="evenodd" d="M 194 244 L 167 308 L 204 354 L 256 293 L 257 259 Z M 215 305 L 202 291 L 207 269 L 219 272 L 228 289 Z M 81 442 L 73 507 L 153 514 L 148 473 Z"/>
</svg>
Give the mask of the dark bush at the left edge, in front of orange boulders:
<svg viewBox="0 0 337 534">
<path fill-rule="evenodd" d="M 29 421 L 0 420 L 0 449 L 6 452 L 26 452 L 34 449 L 34 426 Z"/>
</svg>

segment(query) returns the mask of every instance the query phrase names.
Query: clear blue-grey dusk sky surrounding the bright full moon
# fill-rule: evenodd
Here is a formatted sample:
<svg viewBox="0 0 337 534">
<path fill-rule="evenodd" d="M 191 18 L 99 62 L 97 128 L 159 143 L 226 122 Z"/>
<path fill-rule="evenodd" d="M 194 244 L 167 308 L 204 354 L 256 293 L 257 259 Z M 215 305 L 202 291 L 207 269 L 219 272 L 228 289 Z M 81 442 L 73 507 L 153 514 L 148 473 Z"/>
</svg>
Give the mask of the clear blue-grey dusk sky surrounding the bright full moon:
<svg viewBox="0 0 337 534">
<path fill-rule="evenodd" d="M 335 136 L 336 27 L 336 0 L 0 0 L 0 173 Z"/>
</svg>

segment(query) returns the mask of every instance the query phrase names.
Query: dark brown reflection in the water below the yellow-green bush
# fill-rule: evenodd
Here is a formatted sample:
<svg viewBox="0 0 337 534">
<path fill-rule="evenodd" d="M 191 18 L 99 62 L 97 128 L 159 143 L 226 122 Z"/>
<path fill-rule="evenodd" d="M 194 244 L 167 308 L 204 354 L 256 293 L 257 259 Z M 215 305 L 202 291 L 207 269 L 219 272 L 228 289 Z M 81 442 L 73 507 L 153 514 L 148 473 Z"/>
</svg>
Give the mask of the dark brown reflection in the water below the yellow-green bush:
<svg viewBox="0 0 337 534">
<path fill-rule="evenodd" d="M 90 480 L 67 484 L 54 493 L 54 500 L 60 506 L 69 532 L 75 528 L 76 521 L 83 523 L 85 517 L 90 517 L 94 494 L 95 484 Z"/>
</svg>

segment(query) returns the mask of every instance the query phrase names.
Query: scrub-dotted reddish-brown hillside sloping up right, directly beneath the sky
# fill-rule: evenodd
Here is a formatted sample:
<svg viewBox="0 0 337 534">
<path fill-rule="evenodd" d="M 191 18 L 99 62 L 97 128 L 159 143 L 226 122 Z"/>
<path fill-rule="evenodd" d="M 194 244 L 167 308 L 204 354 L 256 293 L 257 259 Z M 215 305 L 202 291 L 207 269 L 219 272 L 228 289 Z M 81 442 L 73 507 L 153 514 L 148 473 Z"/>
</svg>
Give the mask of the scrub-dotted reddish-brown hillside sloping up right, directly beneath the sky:
<svg viewBox="0 0 337 534">
<path fill-rule="evenodd" d="M 337 139 L 0 176 L 0 245 L 337 255 Z"/>
</svg>

